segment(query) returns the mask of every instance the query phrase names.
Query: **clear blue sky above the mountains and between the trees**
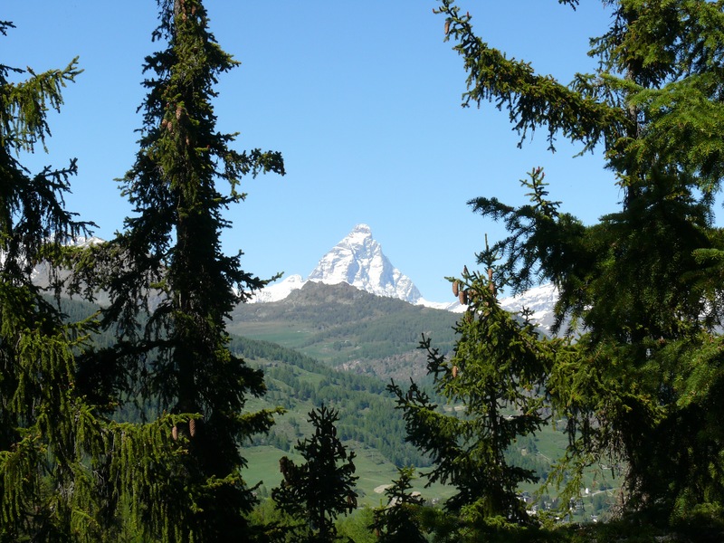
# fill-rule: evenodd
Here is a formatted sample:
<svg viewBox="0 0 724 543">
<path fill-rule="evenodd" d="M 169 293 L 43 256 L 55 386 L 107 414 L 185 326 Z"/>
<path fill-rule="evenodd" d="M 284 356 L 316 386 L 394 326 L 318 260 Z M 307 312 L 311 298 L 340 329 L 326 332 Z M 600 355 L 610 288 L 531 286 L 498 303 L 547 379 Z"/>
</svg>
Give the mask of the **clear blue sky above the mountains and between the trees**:
<svg viewBox="0 0 724 543">
<path fill-rule="evenodd" d="M 550 192 L 586 223 L 620 199 L 599 156 L 575 158 L 560 142 L 547 150 L 541 131 L 522 149 L 507 113 L 490 104 L 462 109 L 462 60 L 443 42 L 436 3 L 207 0 L 210 28 L 242 66 L 222 76 L 218 128 L 238 131 L 235 147 L 280 150 L 287 176 L 247 179 L 246 202 L 228 214 L 228 252 L 245 252 L 245 269 L 306 276 L 358 223 L 369 224 L 386 255 L 428 300 L 452 300 L 445 276 L 472 267 L 483 236 L 499 225 L 466 202 L 498 196 L 525 200 L 519 179 L 546 168 Z M 588 38 L 605 32 L 601 2 L 577 11 L 556 0 L 459 0 L 488 43 L 568 82 L 593 71 Z M 49 155 L 77 157 L 68 207 L 110 238 L 129 206 L 114 179 L 137 151 L 144 57 L 157 25 L 153 0 L 14 0 L 0 19 L 16 29 L 0 37 L 0 63 L 35 71 L 80 56 L 85 71 L 51 117 Z"/>
</svg>

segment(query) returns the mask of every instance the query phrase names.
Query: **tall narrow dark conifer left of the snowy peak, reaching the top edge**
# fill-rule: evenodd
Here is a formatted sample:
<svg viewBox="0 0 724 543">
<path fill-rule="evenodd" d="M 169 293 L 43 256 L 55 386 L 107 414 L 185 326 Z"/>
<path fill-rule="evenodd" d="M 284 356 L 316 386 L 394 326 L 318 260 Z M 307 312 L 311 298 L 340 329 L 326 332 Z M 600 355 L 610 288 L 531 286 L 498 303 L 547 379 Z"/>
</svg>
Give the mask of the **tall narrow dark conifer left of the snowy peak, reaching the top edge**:
<svg viewBox="0 0 724 543">
<path fill-rule="evenodd" d="M 279 153 L 234 151 L 235 135 L 215 129 L 214 84 L 238 62 L 209 32 L 204 5 L 158 5 L 153 40 L 167 46 L 146 59 L 140 148 L 121 180 L 133 215 L 77 267 L 89 290 L 109 292 L 103 324 L 118 330 L 117 344 L 88 364 L 112 368 L 119 401 L 162 414 L 151 426 L 165 435 L 129 452 L 145 474 L 125 476 L 116 491 L 145 537 L 242 541 L 251 538 L 244 513 L 255 499 L 240 448 L 271 426 L 273 411 L 244 411 L 264 393 L 263 376 L 230 352 L 225 319 L 265 281 L 243 271 L 241 252 L 225 255 L 219 236 L 230 226 L 224 210 L 244 198 L 242 177 L 284 168 Z"/>
</svg>

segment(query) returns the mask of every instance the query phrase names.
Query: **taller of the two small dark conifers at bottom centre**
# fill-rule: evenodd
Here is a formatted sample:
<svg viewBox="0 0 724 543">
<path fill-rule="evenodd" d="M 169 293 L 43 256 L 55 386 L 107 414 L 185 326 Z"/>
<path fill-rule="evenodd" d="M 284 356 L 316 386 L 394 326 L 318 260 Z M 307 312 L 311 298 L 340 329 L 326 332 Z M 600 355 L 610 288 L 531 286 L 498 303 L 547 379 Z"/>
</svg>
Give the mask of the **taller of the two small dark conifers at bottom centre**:
<svg viewBox="0 0 724 543">
<path fill-rule="evenodd" d="M 357 507 L 355 452 L 347 452 L 338 438 L 337 421 L 337 411 L 325 405 L 310 412 L 314 435 L 295 447 L 305 462 L 298 466 L 286 456 L 281 458 L 284 480 L 271 491 L 282 510 L 310 529 L 303 536 L 307 541 L 335 540 L 335 519 Z"/>
</svg>

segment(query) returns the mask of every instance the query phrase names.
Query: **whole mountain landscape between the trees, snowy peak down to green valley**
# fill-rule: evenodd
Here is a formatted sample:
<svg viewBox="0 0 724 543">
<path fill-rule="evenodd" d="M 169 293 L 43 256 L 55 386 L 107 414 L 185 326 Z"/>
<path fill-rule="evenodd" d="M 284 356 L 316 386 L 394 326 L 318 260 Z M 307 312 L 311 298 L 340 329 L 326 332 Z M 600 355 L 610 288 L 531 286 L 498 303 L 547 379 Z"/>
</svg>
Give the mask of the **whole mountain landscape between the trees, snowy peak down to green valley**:
<svg viewBox="0 0 724 543">
<path fill-rule="evenodd" d="M 35 281 L 47 283 L 44 276 L 47 271 L 39 266 Z M 100 303 L 103 298 L 99 296 Z M 545 329 L 555 298 L 555 291 L 543 286 L 501 303 L 512 312 L 528 307 Z M 63 303 L 71 319 L 95 310 L 80 301 Z M 279 459 L 287 455 L 299 460 L 293 447 L 312 430 L 308 413 L 325 404 L 338 409 L 338 432 L 357 454 L 360 505 L 378 506 L 398 467 L 429 465 L 428 458 L 405 442 L 405 422 L 386 385 L 391 379 L 402 385 L 413 379 L 430 389 L 420 340 L 430 337 L 441 354 L 450 353 L 453 326 L 462 310 L 457 302 L 424 300 L 365 224 L 357 225 L 327 252 L 306 280 L 292 275 L 251 303 L 237 306 L 227 326 L 231 348 L 250 366 L 262 369 L 267 386 L 266 394 L 252 398 L 248 406 L 286 409 L 270 433 L 257 436 L 245 453 L 247 481 L 261 483 L 262 497 L 279 484 Z M 548 459 L 557 457 L 565 439 L 563 433 L 546 430 L 540 437 L 523 440 L 510 453 L 519 465 L 545 476 Z M 424 488 L 424 480 L 415 481 L 414 487 L 429 500 L 452 494 L 441 485 Z"/>
</svg>

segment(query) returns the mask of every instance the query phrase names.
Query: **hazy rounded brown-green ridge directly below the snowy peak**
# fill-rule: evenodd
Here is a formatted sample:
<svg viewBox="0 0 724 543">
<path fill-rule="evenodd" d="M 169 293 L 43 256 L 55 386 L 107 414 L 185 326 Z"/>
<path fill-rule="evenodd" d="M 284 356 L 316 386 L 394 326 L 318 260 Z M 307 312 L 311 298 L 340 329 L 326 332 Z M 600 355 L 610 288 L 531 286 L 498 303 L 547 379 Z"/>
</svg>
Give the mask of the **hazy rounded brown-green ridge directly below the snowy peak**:
<svg viewBox="0 0 724 543">
<path fill-rule="evenodd" d="M 294 348 L 358 374 L 418 379 L 426 373 L 422 335 L 441 353 L 452 350 L 460 315 L 375 296 L 347 283 L 308 282 L 284 300 L 243 304 L 229 331 Z"/>
</svg>

